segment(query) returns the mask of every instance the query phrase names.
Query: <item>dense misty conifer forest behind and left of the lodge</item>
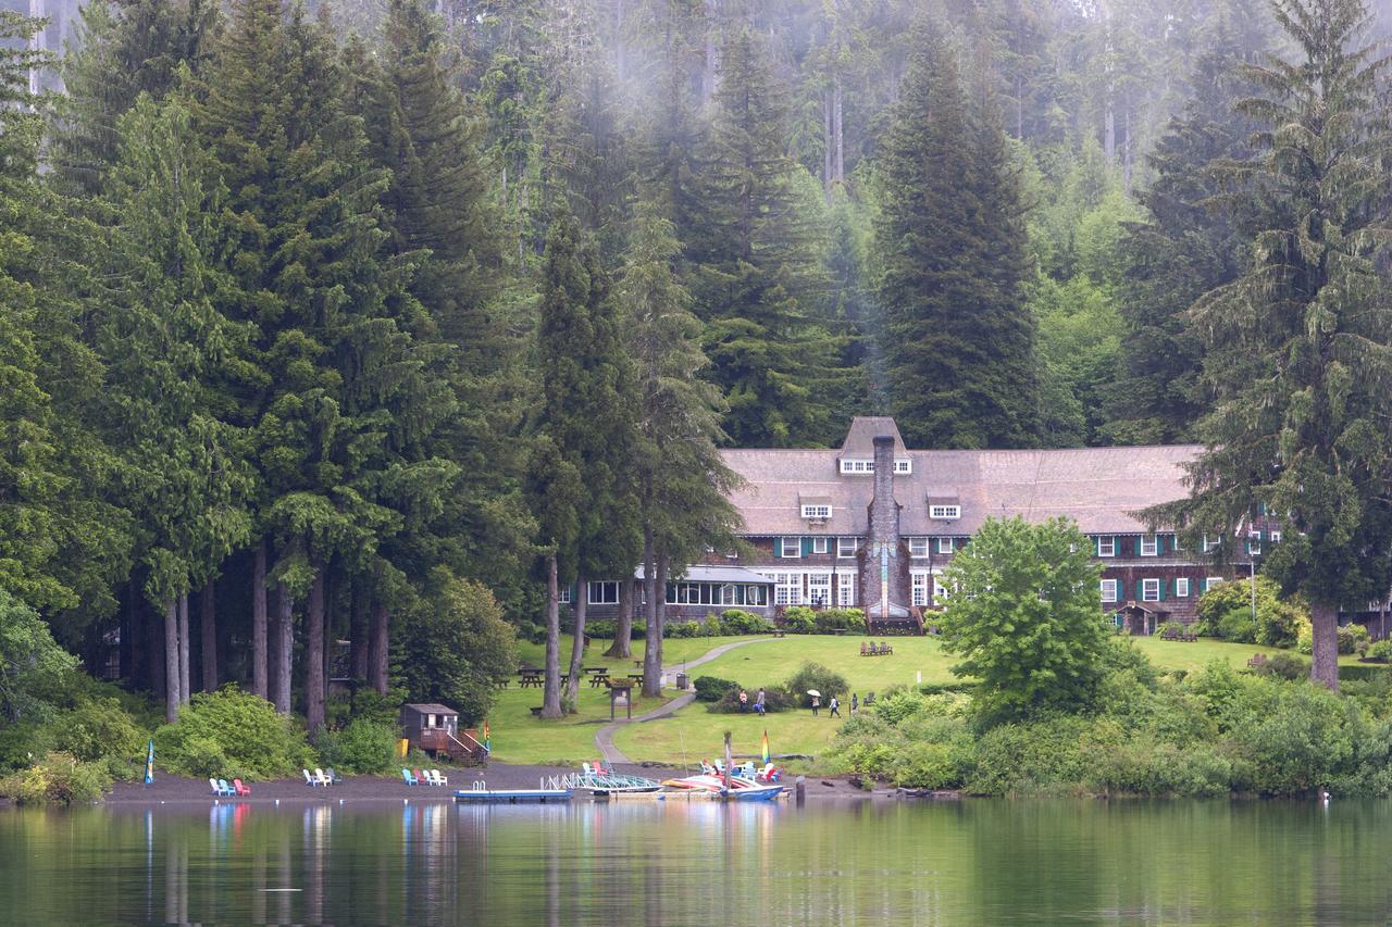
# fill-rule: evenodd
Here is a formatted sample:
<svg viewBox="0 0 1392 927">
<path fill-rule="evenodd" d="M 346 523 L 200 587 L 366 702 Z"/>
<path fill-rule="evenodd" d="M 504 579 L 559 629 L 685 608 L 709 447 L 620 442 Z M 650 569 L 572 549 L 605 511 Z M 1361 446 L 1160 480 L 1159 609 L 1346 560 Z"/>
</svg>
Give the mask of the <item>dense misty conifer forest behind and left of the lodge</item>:
<svg viewBox="0 0 1392 927">
<path fill-rule="evenodd" d="M 171 717 L 244 681 L 316 731 L 334 672 L 470 714 L 514 629 L 558 665 L 560 590 L 633 564 L 660 640 L 656 589 L 738 529 L 721 445 L 892 413 L 917 447 L 1237 447 L 1233 409 L 1271 408 L 1243 388 L 1296 355 L 1233 294 L 1289 320 L 1386 266 L 1385 184 L 1349 180 L 1392 156 L 1381 64 L 1340 57 L 1382 28 L 1354 0 L 92 0 L 63 49 L 42 28 L 0 13 L 0 587 Z M 1274 107 L 1340 75 L 1363 160 L 1310 231 Z M 1370 276 L 1272 283 L 1278 227 Z M 1325 458 L 1381 473 L 1385 401 L 1311 377 L 1296 426 L 1353 423 Z M 1263 459 L 1212 462 L 1180 521 L 1281 498 Z M 1318 601 L 1386 547 L 1381 508 L 1329 505 L 1367 566 Z"/>
</svg>

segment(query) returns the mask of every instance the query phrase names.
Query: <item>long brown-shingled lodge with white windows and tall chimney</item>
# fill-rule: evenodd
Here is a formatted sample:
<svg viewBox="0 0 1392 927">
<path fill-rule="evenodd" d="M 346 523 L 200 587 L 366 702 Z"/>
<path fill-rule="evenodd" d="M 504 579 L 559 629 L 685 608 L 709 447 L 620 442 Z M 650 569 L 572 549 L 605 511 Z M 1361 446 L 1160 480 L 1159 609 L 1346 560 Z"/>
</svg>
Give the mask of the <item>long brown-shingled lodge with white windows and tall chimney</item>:
<svg viewBox="0 0 1392 927">
<path fill-rule="evenodd" d="M 1151 532 L 1137 512 L 1183 498 L 1183 465 L 1199 451 L 913 451 L 889 418 L 853 419 L 839 448 L 727 450 L 742 477 L 732 501 L 743 550 L 710 551 L 670 582 L 668 619 L 734 607 L 775 619 L 789 605 L 856 607 L 877 632 L 917 632 L 942 607 L 942 572 L 972 534 L 987 518 L 1018 515 L 1079 525 L 1102 564 L 1101 607 L 1116 624 L 1134 633 L 1187 624 L 1199 596 L 1231 573 L 1214 568 L 1211 551 Z M 1260 554 L 1264 540 L 1279 536 L 1253 530 L 1228 560 Z M 589 601 L 593 617 L 612 612 L 618 583 L 589 583 Z"/>
</svg>

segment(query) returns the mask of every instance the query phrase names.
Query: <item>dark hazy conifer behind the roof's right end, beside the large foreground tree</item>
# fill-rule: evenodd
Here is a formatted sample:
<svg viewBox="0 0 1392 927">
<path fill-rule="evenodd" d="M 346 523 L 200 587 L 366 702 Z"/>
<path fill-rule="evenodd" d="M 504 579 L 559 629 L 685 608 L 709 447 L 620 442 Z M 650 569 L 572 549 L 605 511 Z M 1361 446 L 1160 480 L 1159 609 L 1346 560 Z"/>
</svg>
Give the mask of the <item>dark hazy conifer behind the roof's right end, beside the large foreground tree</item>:
<svg viewBox="0 0 1392 927">
<path fill-rule="evenodd" d="M 1192 79 L 1194 96 L 1147 156 L 1155 181 L 1140 195 L 1148 219 L 1122 248 L 1119 301 L 1126 323 L 1121 366 L 1105 408 L 1107 433 L 1126 444 L 1186 440 L 1204 412 L 1203 334 L 1185 310 L 1243 273 L 1256 199 L 1215 170 L 1250 154 L 1251 120 L 1233 111 L 1250 88 L 1235 74 L 1240 50 L 1224 42 L 1205 53 Z M 1222 198 L 1229 210 L 1215 210 Z"/>
</svg>

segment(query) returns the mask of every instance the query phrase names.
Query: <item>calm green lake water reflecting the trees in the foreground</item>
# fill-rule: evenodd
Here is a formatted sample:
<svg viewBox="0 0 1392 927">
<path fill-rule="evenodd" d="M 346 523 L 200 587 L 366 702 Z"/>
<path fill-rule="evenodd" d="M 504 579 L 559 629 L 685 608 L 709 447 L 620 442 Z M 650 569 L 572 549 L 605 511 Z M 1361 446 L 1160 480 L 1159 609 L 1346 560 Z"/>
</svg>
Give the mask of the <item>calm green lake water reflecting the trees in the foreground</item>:
<svg viewBox="0 0 1392 927">
<path fill-rule="evenodd" d="M 0 924 L 1388 923 L 1392 803 L 0 810 Z"/>
</svg>

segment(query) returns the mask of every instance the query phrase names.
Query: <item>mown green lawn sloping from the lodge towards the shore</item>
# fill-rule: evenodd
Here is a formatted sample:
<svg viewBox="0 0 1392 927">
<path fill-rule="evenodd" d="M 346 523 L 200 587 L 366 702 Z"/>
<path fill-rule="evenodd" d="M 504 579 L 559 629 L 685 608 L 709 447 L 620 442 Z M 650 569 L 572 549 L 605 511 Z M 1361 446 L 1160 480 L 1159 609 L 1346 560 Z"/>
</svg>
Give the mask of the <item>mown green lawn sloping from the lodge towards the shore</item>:
<svg viewBox="0 0 1392 927">
<path fill-rule="evenodd" d="M 883 692 L 892 685 L 923 682 L 951 682 L 956 657 L 942 651 L 933 637 L 894 637 L 894 654 L 888 657 L 862 657 L 856 636 L 788 636 L 780 640 L 767 637 L 683 637 L 668 640 L 664 646 L 664 663 L 679 665 L 682 658 L 692 660 L 709 650 L 732 640 L 761 639 L 749 647 L 732 650 L 692 671 L 693 676 L 720 676 L 734 679 L 753 692 L 757 686 L 777 686 L 792 676 L 807 661 L 820 663 L 846 678 L 851 692 L 864 697 L 866 692 Z M 1235 667 L 1246 667 L 1256 653 L 1276 653 L 1272 647 L 1256 644 L 1233 644 L 1221 640 L 1178 642 L 1158 637 L 1132 639 L 1161 670 L 1201 670 L 1212 660 L 1226 660 Z M 567 642 L 568 643 L 568 642 Z M 600 657 L 607 642 L 590 644 L 585 665 L 608 665 L 617 672 L 612 658 Z M 642 658 L 643 642 L 633 642 L 633 658 Z M 535 658 L 533 658 L 535 654 Z M 568 658 L 569 649 L 562 649 Z M 537 644 L 523 644 L 522 658 L 540 664 L 544 651 Z M 1356 657 L 1340 657 L 1340 663 L 1357 663 Z M 632 671 L 632 665 L 625 667 Z M 668 693 L 672 690 L 668 689 Z M 838 693 L 849 703 L 849 693 Z M 607 695 L 589 689 L 580 693 L 580 714 L 562 722 L 544 722 L 530 717 L 528 708 L 540 704 L 541 696 L 535 689 L 518 692 L 509 689 L 501 693 L 500 707 L 494 710 L 494 756 L 512 763 L 540 763 L 551 759 L 586 759 L 594 756 L 594 731 L 599 717 L 608 718 Z M 658 704 L 654 699 L 640 700 L 633 706 L 635 714 L 649 711 Z M 846 706 L 842 706 L 846 713 Z M 586 724 L 586 721 L 592 721 Z M 501 722 L 514 729 L 508 732 L 507 747 L 500 739 Z M 618 731 L 614 743 L 635 760 L 656 760 L 664 763 L 696 763 L 715 756 L 721 749 L 725 731 L 732 734 L 735 753 L 757 753 L 759 738 L 768 731 L 770 747 L 774 753 L 817 754 L 831 743 L 838 721 L 827 720 L 825 711 L 813 718 L 806 708 L 781 711 L 760 718 L 753 714 L 710 714 L 704 704 L 690 704 L 670 718 L 635 724 Z"/>
</svg>

